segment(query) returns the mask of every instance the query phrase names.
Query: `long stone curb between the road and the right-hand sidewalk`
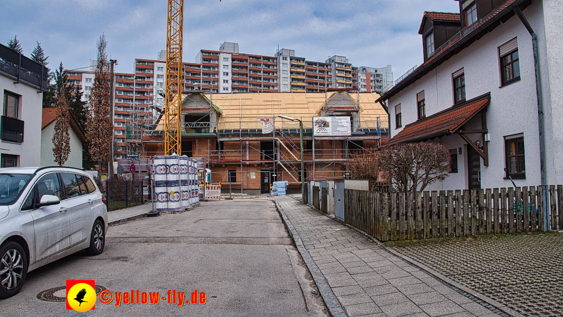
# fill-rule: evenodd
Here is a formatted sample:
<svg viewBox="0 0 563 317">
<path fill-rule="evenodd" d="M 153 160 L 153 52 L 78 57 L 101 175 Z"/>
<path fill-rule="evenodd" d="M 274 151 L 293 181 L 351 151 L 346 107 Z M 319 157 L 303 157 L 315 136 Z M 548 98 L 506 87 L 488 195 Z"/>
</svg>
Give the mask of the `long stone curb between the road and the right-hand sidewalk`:
<svg viewBox="0 0 563 317">
<path fill-rule="evenodd" d="M 330 288 L 327 279 L 324 278 L 323 273 L 320 271 L 319 266 L 316 265 L 315 261 L 309 254 L 309 251 L 307 251 L 305 245 L 303 245 L 301 237 L 297 233 L 295 227 L 293 227 L 293 225 L 291 224 L 291 221 L 289 221 L 289 219 L 287 218 L 285 211 L 282 207 L 280 207 L 277 201 L 274 200 L 274 203 L 276 205 L 276 208 L 278 209 L 278 212 L 280 213 L 280 215 L 282 215 L 282 219 L 285 223 L 285 227 L 289 232 L 289 236 L 291 236 L 293 242 L 295 242 L 297 250 L 299 251 L 299 253 L 301 253 L 301 257 L 303 258 L 303 261 L 305 261 L 307 269 L 309 269 L 311 276 L 315 280 L 315 284 L 319 288 L 320 295 L 323 297 L 324 303 L 325 305 L 327 305 L 330 315 L 333 317 L 348 317 L 348 315 L 340 305 L 340 302 L 332 292 L 332 288 Z"/>
</svg>

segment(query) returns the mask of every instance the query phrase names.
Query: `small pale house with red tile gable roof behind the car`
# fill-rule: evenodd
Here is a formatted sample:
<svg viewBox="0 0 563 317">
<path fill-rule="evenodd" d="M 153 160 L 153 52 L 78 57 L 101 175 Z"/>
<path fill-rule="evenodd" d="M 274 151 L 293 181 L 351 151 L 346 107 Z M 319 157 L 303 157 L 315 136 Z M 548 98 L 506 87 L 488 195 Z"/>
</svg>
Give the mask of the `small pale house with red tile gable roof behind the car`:
<svg viewBox="0 0 563 317">
<path fill-rule="evenodd" d="M 43 118 L 41 121 L 41 166 L 55 166 L 55 156 L 53 155 L 53 135 L 55 135 L 55 124 L 59 117 L 59 109 L 43 108 Z M 62 166 L 77 167 L 82 169 L 83 148 L 88 146 L 86 134 L 78 121 L 70 112 L 69 120 L 70 134 L 70 153 L 68 160 Z"/>
</svg>

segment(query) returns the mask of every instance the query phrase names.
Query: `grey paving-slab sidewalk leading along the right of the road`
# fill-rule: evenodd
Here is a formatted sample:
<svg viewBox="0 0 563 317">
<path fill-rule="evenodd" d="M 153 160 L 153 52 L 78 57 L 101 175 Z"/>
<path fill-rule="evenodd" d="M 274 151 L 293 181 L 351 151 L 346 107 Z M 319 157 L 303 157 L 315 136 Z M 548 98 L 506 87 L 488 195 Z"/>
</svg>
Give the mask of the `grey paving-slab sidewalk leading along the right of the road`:
<svg viewBox="0 0 563 317">
<path fill-rule="evenodd" d="M 269 199 L 285 211 L 348 316 L 497 316 L 301 202 Z"/>
</svg>

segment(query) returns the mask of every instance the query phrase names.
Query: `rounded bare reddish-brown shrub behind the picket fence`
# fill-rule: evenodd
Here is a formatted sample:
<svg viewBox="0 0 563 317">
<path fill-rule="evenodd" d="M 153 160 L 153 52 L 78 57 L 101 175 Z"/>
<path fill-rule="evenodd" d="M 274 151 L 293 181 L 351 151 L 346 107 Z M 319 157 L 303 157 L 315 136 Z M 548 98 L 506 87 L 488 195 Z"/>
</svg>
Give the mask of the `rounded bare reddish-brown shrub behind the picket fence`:
<svg viewBox="0 0 563 317">
<path fill-rule="evenodd" d="M 381 170 L 397 191 L 423 191 L 444 180 L 450 171 L 450 152 L 440 143 L 404 143 L 379 152 Z"/>
</svg>

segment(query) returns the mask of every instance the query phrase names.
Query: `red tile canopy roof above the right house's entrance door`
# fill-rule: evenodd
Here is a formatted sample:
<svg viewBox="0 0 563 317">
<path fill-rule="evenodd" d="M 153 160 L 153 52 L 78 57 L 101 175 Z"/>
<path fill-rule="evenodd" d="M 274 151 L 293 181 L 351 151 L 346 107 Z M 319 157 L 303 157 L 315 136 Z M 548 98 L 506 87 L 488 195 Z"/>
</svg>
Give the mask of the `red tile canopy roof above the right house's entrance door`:
<svg viewBox="0 0 563 317">
<path fill-rule="evenodd" d="M 489 98 L 481 99 L 470 105 L 451 108 L 427 117 L 419 123 L 406 125 L 401 132 L 391 138 L 386 145 L 405 142 L 425 141 L 426 139 L 449 134 L 461 128 L 469 119 L 489 105 Z"/>
</svg>

